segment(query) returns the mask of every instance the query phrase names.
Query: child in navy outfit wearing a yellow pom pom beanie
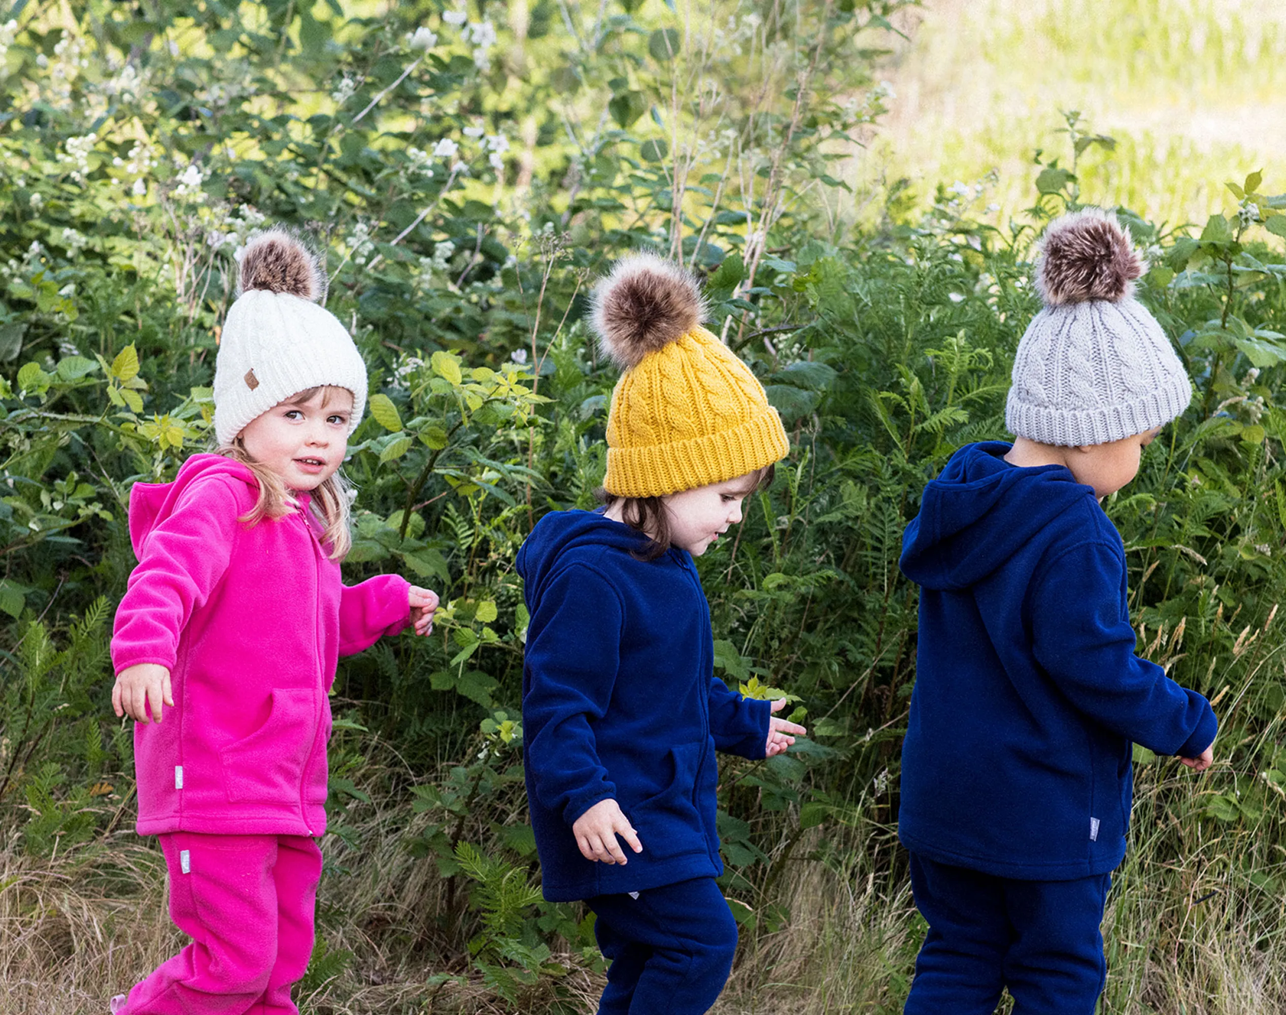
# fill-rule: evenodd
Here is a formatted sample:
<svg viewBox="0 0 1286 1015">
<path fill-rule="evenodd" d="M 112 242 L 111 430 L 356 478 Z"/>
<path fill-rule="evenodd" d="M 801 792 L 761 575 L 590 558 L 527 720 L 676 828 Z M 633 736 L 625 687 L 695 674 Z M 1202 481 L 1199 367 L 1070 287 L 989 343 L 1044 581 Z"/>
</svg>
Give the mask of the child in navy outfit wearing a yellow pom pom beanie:
<svg viewBox="0 0 1286 1015">
<path fill-rule="evenodd" d="M 597 916 L 611 960 L 599 1012 L 714 1005 L 737 947 L 715 884 L 715 750 L 764 758 L 805 732 L 770 714 L 784 701 L 745 700 L 714 675 L 692 558 L 741 521 L 788 445 L 702 315 L 696 282 L 658 257 L 626 259 L 599 284 L 594 325 L 626 367 L 607 506 L 547 515 L 518 553 L 531 827 L 545 898 Z"/>
</svg>

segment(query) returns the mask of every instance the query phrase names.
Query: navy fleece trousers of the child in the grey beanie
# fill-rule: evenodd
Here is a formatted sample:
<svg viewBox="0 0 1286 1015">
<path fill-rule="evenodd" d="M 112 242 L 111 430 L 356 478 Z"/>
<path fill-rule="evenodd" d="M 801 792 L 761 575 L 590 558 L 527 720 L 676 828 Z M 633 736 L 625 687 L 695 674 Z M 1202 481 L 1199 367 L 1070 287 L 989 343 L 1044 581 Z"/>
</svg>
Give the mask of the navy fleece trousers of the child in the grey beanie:
<svg viewBox="0 0 1286 1015">
<path fill-rule="evenodd" d="M 905 1015 L 1093 1015 L 1107 978 L 1100 924 L 1111 875 L 1020 881 L 910 854 L 928 934 Z"/>
</svg>

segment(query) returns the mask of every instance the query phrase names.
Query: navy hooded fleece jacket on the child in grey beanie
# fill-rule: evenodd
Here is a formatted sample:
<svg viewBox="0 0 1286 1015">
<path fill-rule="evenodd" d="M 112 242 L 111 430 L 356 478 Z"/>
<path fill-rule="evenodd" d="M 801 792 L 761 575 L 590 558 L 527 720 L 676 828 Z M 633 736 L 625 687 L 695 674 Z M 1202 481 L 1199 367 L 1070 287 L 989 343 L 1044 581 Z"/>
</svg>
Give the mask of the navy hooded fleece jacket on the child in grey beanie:
<svg viewBox="0 0 1286 1015">
<path fill-rule="evenodd" d="M 1134 655 L 1125 553 L 1091 486 L 967 445 L 925 488 L 901 570 L 921 585 L 899 837 L 1002 877 L 1125 855 L 1130 742 L 1199 756 L 1209 702 Z"/>
</svg>

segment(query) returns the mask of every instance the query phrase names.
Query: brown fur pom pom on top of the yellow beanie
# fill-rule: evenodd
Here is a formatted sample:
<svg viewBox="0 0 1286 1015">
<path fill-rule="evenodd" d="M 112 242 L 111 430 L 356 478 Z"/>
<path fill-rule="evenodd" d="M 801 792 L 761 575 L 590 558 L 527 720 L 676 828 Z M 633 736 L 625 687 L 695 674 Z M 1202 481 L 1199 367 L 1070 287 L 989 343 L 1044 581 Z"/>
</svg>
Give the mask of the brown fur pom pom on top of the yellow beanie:
<svg viewBox="0 0 1286 1015">
<path fill-rule="evenodd" d="M 590 302 L 599 345 L 624 368 L 682 338 L 706 315 L 696 278 L 655 253 L 619 260 Z"/>
</svg>

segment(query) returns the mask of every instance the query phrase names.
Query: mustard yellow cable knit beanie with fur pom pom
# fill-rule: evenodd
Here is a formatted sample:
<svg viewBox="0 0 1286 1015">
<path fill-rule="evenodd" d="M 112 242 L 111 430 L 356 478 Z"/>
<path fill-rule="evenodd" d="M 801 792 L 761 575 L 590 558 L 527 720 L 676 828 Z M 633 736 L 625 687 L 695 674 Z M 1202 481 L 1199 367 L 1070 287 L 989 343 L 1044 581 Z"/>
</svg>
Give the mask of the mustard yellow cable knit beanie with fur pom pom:
<svg viewBox="0 0 1286 1015">
<path fill-rule="evenodd" d="M 607 493 L 665 497 L 786 457 L 786 428 L 764 386 L 701 327 L 706 306 L 688 271 L 631 255 L 592 298 L 603 351 L 625 368 L 607 413 Z"/>
</svg>

